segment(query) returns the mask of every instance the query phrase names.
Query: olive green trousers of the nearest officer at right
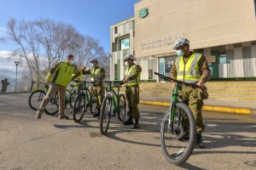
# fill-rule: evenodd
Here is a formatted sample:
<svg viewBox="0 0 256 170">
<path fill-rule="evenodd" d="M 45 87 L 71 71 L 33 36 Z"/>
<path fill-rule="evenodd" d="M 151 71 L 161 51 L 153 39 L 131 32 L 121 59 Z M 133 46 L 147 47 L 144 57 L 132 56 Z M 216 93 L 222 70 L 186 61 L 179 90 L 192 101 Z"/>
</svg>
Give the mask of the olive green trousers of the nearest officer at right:
<svg viewBox="0 0 256 170">
<path fill-rule="evenodd" d="M 198 96 L 200 93 L 198 93 L 197 89 L 184 85 L 182 86 L 178 93 L 182 96 L 183 101 L 185 103 L 189 103 L 189 108 L 191 109 L 193 115 L 195 116 L 196 131 L 203 132 L 205 130 L 205 125 L 203 123 L 201 109 L 204 103 L 201 99 L 201 96 Z"/>
</svg>

